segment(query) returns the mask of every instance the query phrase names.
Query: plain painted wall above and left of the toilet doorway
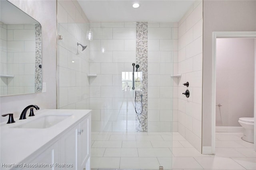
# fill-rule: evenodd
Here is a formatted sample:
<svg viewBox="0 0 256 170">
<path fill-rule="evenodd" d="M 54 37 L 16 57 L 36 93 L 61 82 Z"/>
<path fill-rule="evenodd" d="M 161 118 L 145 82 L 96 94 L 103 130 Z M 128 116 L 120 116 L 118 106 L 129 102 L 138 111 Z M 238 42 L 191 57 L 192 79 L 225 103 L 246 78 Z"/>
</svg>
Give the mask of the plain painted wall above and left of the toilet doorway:
<svg viewBox="0 0 256 170">
<path fill-rule="evenodd" d="M 203 130 L 202 145 L 211 146 L 212 141 L 212 32 L 256 31 L 256 1 L 205 0 L 203 39 Z"/>
</svg>

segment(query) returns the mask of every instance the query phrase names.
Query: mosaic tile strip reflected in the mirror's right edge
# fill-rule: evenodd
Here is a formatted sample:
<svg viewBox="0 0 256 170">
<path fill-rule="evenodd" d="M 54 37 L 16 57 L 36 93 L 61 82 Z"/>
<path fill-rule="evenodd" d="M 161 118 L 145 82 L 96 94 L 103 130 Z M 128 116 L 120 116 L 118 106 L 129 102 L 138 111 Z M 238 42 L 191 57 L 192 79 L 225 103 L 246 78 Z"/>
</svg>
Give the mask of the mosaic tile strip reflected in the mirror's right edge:
<svg viewBox="0 0 256 170">
<path fill-rule="evenodd" d="M 35 24 L 36 29 L 36 60 L 35 60 L 35 92 L 42 91 L 42 29 L 40 24 Z"/>
</svg>

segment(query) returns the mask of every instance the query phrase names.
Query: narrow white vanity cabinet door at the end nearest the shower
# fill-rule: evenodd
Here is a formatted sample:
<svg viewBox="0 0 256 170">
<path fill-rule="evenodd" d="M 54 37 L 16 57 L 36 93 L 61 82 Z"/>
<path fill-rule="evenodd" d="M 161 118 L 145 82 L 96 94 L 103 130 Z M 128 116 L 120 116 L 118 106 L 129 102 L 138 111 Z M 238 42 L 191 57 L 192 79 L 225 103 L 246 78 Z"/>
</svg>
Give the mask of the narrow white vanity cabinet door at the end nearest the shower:
<svg viewBox="0 0 256 170">
<path fill-rule="evenodd" d="M 90 116 L 86 117 L 79 124 L 81 134 L 79 135 L 79 170 L 85 168 L 86 162 L 90 157 Z"/>
</svg>

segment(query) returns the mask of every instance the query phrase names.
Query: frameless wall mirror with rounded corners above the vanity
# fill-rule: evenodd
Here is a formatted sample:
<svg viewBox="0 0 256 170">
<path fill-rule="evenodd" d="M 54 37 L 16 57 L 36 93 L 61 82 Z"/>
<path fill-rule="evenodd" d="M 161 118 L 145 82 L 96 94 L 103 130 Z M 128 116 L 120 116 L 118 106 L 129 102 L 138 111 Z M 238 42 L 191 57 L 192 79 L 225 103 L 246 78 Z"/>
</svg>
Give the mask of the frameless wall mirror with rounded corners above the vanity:
<svg viewBox="0 0 256 170">
<path fill-rule="evenodd" d="M 7 0 L 0 3 L 0 96 L 41 92 L 41 25 Z"/>
</svg>

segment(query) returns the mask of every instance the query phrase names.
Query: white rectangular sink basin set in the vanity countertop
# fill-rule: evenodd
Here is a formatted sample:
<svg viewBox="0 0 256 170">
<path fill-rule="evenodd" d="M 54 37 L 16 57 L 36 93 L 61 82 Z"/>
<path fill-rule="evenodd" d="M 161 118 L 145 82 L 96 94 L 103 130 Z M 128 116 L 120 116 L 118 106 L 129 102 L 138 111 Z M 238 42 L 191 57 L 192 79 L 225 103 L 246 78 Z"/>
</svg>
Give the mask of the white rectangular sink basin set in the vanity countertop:
<svg viewBox="0 0 256 170">
<path fill-rule="evenodd" d="M 70 117 L 71 115 L 44 115 L 42 117 L 36 118 L 28 123 L 23 123 L 21 125 L 15 126 L 14 128 L 34 128 L 34 129 L 44 129 L 52 127 L 57 123 L 63 121 L 64 119 Z"/>
</svg>

